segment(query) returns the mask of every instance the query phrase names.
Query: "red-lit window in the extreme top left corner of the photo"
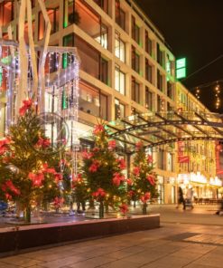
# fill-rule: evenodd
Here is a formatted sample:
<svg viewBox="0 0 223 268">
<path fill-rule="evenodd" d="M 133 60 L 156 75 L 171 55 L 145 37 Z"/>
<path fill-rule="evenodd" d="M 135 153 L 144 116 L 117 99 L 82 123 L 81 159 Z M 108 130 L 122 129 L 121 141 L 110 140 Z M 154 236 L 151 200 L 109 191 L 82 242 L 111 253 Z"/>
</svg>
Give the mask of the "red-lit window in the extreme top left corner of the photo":
<svg viewBox="0 0 223 268">
<path fill-rule="evenodd" d="M 0 3 L 0 26 L 5 26 L 14 20 L 14 1 Z"/>
</svg>

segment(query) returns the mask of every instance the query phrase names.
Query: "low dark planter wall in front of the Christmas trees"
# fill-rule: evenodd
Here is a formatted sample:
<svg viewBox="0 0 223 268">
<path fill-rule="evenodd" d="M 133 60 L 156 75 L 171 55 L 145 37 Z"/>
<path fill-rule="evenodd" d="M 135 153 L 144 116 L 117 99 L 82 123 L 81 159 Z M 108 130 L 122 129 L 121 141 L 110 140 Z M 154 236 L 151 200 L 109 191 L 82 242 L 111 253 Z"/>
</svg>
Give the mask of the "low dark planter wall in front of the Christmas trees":
<svg viewBox="0 0 223 268">
<path fill-rule="evenodd" d="M 160 215 L 89 220 L 72 224 L 30 225 L 0 229 L 0 254 L 14 254 L 27 248 L 63 244 L 104 235 L 117 235 L 158 228 Z M 9 230 L 10 229 L 10 230 Z"/>
</svg>

